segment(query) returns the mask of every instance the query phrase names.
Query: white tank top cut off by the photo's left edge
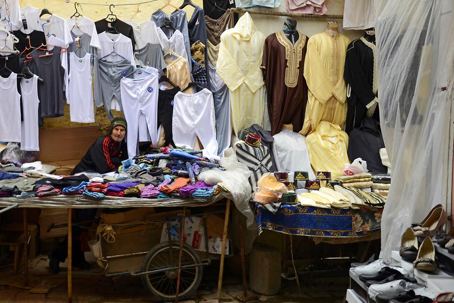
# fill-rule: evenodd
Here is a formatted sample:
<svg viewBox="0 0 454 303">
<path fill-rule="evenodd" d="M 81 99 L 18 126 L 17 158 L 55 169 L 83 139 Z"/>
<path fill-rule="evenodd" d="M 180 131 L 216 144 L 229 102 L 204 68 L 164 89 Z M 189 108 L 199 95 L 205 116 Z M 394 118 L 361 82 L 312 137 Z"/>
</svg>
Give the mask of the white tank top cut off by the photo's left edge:
<svg viewBox="0 0 454 303">
<path fill-rule="evenodd" d="M 0 77 L 0 141 L 21 142 L 21 95 L 17 74 Z"/>
</svg>

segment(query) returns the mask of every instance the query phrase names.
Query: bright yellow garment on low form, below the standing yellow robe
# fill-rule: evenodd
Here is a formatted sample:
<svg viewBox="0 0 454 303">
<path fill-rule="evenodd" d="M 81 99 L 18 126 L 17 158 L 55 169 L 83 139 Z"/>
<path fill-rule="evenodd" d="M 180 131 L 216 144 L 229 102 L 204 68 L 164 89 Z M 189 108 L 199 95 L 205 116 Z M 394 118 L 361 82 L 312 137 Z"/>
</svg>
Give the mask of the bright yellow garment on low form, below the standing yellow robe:
<svg viewBox="0 0 454 303">
<path fill-rule="evenodd" d="M 331 177 L 344 175 L 349 136 L 341 127 L 321 121 L 317 129 L 306 137 L 309 159 L 314 171 L 330 171 Z"/>
</svg>

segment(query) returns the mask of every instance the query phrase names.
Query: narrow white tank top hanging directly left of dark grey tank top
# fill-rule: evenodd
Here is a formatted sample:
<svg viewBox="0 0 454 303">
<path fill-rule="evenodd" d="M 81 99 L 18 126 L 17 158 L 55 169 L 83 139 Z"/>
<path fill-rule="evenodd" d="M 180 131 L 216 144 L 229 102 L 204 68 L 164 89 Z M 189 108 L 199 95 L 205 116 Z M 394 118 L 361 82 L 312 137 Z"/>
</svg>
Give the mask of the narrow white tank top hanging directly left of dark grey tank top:
<svg viewBox="0 0 454 303">
<path fill-rule="evenodd" d="M 21 80 L 22 121 L 21 150 L 39 151 L 39 126 L 38 126 L 38 76 Z"/>
</svg>

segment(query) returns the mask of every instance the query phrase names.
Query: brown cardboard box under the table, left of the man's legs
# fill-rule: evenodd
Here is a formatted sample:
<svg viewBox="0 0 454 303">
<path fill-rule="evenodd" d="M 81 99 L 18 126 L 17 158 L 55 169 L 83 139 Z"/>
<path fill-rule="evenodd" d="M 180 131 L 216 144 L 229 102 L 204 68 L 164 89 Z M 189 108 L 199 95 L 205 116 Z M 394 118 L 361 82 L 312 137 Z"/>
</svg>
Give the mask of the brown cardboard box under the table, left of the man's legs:
<svg viewBox="0 0 454 303">
<path fill-rule="evenodd" d="M 61 208 L 43 208 L 39 215 L 39 237 L 50 238 L 59 237 L 68 233 L 68 227 L 53 227 L 49 232 L 47 228 L 50 224 L 68 224 L 68 210 Z"/>
</svg>

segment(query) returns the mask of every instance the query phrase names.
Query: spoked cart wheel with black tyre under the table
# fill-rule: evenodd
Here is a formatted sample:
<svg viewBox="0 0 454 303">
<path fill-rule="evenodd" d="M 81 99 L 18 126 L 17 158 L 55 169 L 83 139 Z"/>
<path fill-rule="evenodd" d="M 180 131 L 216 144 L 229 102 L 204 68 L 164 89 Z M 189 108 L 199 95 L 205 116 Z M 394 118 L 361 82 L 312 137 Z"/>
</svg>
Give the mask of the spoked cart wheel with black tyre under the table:
<svg viewBox="0 0 454 303">
<path fill-rule="evenodd" d="M 155 246 L 145 257 L 142 264 L 142 271 L 162 271 L 141 276 L 142 284 L 157 299 L 168 302 L 174 301 L 177 294 L 177 269 L 180 245 L 172 244 L 172 259 L 168 242 Z M 192 247 L 184 244 L 182 250 L 182 266 L 201 263 L 199 256 Z M 181 269 L 179 300 L 188 298 L 200 285 L 202 280 L 203 266 L 194 266 Z"/>
</svg>

